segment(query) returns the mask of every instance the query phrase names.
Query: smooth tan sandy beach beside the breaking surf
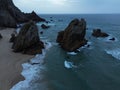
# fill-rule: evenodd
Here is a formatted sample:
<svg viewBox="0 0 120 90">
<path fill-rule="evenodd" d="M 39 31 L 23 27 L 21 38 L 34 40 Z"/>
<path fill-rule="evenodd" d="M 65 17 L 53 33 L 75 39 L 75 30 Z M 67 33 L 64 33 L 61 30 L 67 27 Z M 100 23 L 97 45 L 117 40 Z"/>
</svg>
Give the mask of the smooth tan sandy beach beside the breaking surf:
<svg viewBox="0 0 120 90">
<path fill-rule="evenodd" d="M 0 30 L 3 36 L 0 39 L 0 90 L 10 90 L 14 84 L 24 80 L 20 74 L 22 71 L 21 64 L 33 57 L 32 55 L 12 52 L 12 44 L 9 43 L 9 39 L 14 30 L 9 28 Z"/>
</svg>

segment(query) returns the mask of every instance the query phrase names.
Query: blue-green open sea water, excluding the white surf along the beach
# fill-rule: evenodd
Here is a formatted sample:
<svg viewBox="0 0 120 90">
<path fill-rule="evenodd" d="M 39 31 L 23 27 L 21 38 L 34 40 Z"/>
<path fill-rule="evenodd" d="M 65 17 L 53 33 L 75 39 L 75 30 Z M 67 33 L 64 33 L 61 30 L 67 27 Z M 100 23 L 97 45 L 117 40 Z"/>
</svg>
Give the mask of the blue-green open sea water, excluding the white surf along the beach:
<svg viewBox="0 0 120 90">
<path fill-rule="evenodd" d="M 44 59 L 47 68 L 45 75 L 51 90 L 120 90 L 120 58 L 116 58 L 120 57 L 120 15 L 50 16 L 56 25 L 44 31 L 44 35 L 48 36 L 50 41 L 55 42 L 57 32 L 64 29 L 71 19 L 85 18 L 88 27 L 86 38 L 91 42 L 90 49 L 82 49 L 75 56 L 68 55 L 59 45 L 53 45 L 47 52 Z M 50 16 L 43 15 L 47 19 Z M 58 19 L 62 19 L 63 22 L 58 22 Z M 107 38 L 91 37 L 93 28 L 101 28 L 117 40 L 110 42 Z M 77 67 L 65 68 L 65 60 L 73 62 Z"/>
</svg>

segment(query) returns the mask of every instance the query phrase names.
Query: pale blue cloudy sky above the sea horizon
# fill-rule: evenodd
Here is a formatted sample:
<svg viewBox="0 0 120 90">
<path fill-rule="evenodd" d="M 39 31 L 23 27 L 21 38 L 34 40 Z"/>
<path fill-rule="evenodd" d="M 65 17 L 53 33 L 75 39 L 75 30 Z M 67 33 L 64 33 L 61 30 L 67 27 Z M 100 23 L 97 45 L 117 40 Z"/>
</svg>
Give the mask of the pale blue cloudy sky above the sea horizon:
<svg viewBox="0 0 120 90">
<path fill-rule="evenodd" d="M 13 0 L 23 12 L 40 14 L 120 13 L 120 0 Z"/>
</svg>

